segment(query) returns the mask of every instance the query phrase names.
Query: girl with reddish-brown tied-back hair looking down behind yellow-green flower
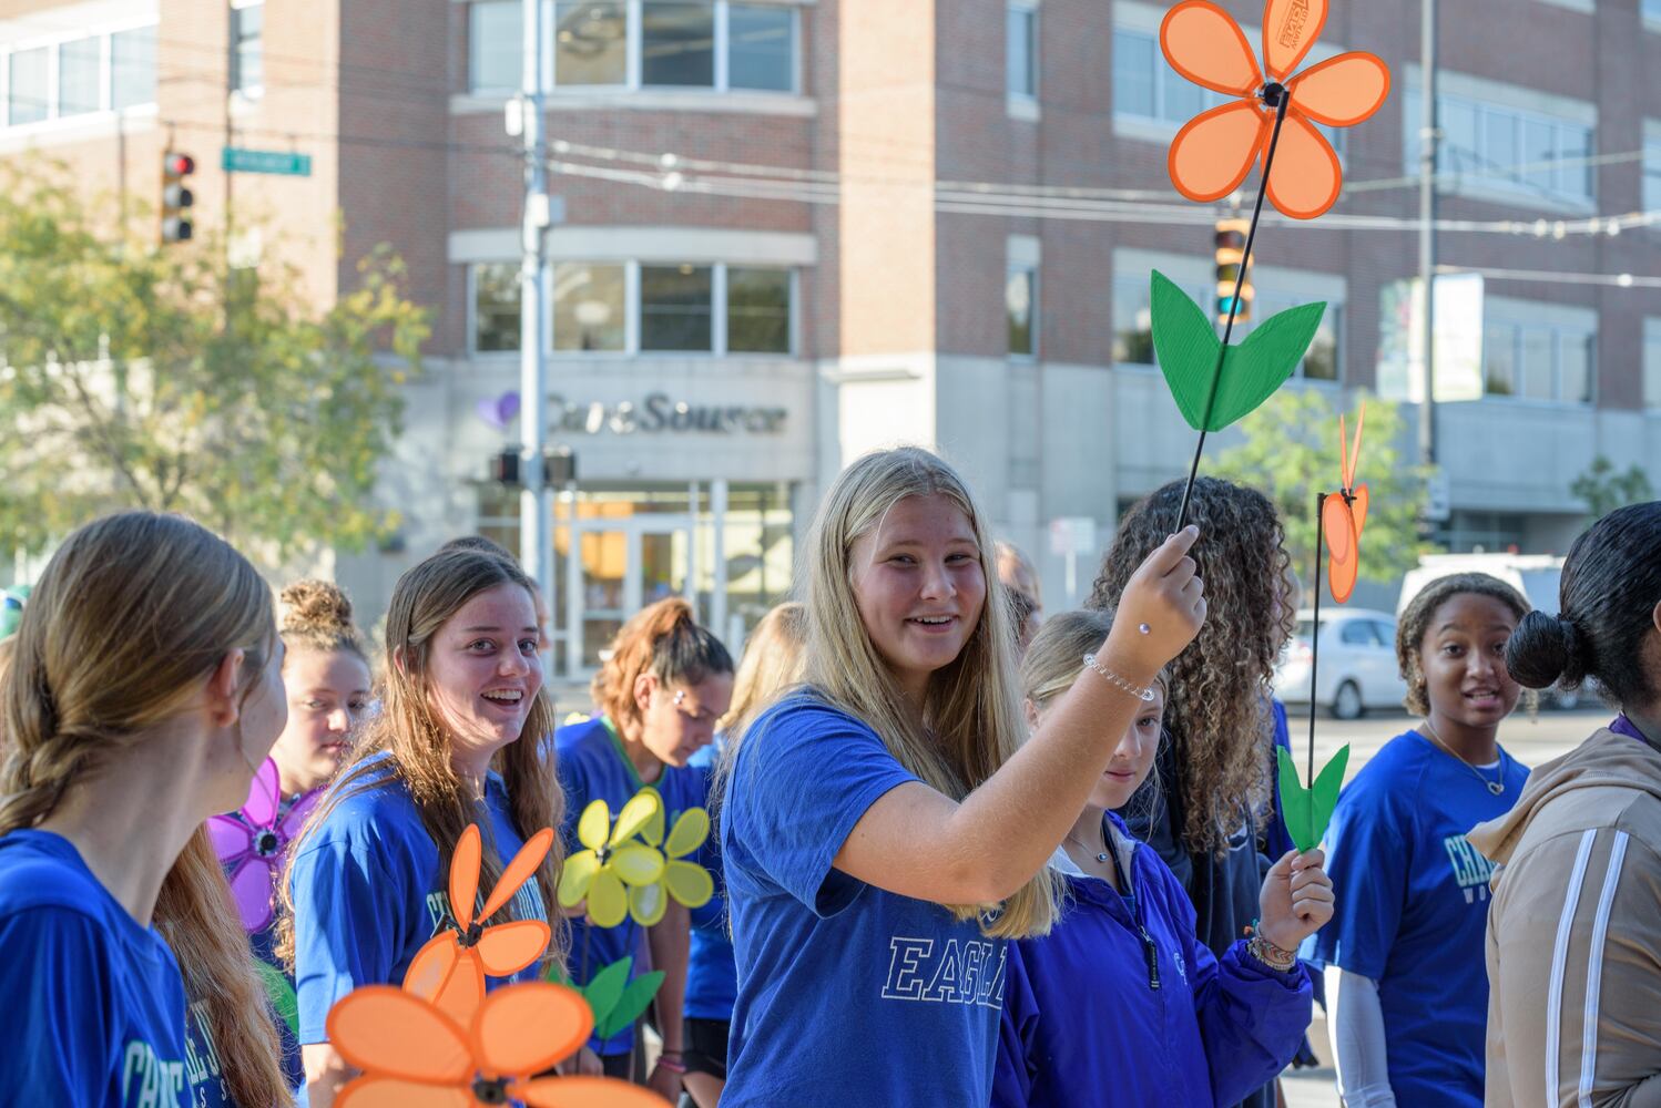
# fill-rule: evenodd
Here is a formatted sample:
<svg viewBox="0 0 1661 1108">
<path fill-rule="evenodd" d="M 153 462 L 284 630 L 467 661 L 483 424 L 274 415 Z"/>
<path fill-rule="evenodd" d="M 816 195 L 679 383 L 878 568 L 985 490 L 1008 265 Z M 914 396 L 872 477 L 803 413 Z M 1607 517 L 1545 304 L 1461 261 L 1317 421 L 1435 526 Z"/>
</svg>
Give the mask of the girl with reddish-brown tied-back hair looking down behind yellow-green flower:
<svg viewBox="0 0 1661 1108">
<path fill-rule="evenodd" d="M 681 597 L 658 600 L 636 612 L 611 640 L 611 654 L 595 673 L 593 698 L 600 713 L 555 733 L 560 785 L 565 788 L 566 849 L 580 849 L 576 821 L 603 799 L 611 818 L 643 788 L 663 799 L 664 826 L 689 808 L 704 806 L 703 775 L 688 761 L 714 740 L 716 722 L 733 700 L 733 655 Z M 571 927 L 571 979 L 586 985 L 606 965 L 635 957 L 630 975 L 664 972 L 656 1018 L 663 1055 L 648 1078 L 671 1103 L 681 1093 L 683 999 L 691 932 L 688 911 L 669 901 L 663 919 L 646 929 L 649 965 L 639 957 L 641 927 L 625 916 L 615 927 L 580 919 Z M 631 1076 L 635 1028 L 590 1040 L 608 1076 Z M 593 1058 L 585 1058 L 593 1067 Z"/>
</svg>

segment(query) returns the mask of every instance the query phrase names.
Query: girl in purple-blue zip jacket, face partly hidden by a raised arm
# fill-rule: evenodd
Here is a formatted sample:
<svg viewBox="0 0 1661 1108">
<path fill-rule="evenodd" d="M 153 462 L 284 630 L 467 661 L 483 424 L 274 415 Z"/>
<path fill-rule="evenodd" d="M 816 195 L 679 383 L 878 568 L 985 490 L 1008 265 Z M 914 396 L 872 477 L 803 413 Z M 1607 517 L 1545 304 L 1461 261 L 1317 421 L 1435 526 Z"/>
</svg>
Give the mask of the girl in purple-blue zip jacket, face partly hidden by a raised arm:
<svg viewBox="0 0 1661 1108">
<path fill-rule="evenodd" d="M 1022 665 L 1033 727 L 1110 629 L 1103 612 L 1066 612 L 1038 630 Z M 1061 919 L 1010 949 L 993 1108 L 1231 1105 L 1272 1080 L 1309 1027 L 1311 982 L 1291 952 L 1332 917 L 1320 851 L 1274 864 L 1257 935 L 1219 959 L 1171 869 L 1113 814 L 1153 768 L 1163 675 L 1154 693 L 1050 859 L 1068 891 Z"/>
</svg>

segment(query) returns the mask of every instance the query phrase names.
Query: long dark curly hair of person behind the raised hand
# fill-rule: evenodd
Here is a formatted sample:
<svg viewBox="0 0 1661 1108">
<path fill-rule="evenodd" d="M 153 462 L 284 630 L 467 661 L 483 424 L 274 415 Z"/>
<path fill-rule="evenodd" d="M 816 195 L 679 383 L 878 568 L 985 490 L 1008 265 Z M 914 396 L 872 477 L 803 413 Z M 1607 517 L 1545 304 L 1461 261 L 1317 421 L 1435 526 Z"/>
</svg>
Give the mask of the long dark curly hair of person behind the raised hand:
<svg viewBox="0 0 1661 1108">
<path fill-rule="evenodd" d="M 1143 559 L 1171 532 L 1183 483 L 1171 481 L 1120 521 L 1086 607 L 1111 609 Z M 1189 501 L 1199 542 L 1189 551 L 1206 582 L 1206 622 L 1169 665 L 1164 723 L 1176 743 L 1183 843 L 1222 854 L 1229 834 L 1269 801 L 1274 662 L 1292 637 L 1286 531 L 1267 496 L 1199 478 Z"/>
</svg>

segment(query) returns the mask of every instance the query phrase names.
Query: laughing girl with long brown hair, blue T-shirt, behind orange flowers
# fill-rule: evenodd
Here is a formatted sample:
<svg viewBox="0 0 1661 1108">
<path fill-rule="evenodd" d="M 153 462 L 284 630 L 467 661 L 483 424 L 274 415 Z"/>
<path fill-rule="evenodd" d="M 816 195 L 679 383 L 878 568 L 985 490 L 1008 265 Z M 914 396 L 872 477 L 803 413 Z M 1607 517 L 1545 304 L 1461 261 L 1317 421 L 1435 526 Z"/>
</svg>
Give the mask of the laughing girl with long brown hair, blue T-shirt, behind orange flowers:
<svg viewBox="0 0 1661 1108">
<path fill-rule="evenodd" d="M 279 887 L 277 955 L 294 970 L 312 1108 L 329 1108 L 352 1076 L 327 1042 L 329 1008 L 359 985 L 400 984 L 447 926 L 450 856 L 467 826 L 483 838 L 482 889 L 525 839 L 560 826 L 553 765 L 538 750 L 553 700 L 533 590 L 515 562 L 472 549 L 440 551 L 392 589 L 382 712 L 306 819 Z M 538 979 L 563 957 L 561 859 L 551 849 L 488 921 L 555 926 L 548 957 L 515 979 Z"/>
</svg>

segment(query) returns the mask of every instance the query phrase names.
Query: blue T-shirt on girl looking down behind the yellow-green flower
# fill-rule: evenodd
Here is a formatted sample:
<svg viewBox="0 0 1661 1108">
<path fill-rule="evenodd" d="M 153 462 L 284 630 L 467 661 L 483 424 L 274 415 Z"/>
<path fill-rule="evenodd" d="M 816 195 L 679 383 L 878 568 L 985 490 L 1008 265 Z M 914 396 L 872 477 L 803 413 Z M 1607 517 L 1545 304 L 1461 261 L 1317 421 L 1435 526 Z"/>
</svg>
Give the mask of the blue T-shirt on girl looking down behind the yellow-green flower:
<svg viewBox="0 0 1661 1108">
<path fill-rule="evenodd" d="M 611 818 L 616 819 L 623 804 L 644 785 L 605 717 L 561 727 L 553 733 L 553 741 L 560 786 L 565 790 L 565 824 L 560 833 L 570 858 L 586 849 L 576 841 L 576 821 L 588 804 L 596 799 L 606 801 Z M 704 806 L 704 776 L 691 766 L 663 766 L 651 788 L 663 798 L 664 833 L 674 826 L 683 811 Z M 578 985 L 586 985 L 595 974 L 625 957 L 635 959 L 630 967 L 631 979 L 648 969 L 644 932 L 633 917 L 625 916 L 616 927 L 591 927 L 586 919 L 571 921 L 571 979 Z M 628 1053 L 635 1045 L 635 1028 L 626 1027 L 605 1042 L 590 1038 L 588 1045 L 601 1055 Z"/>
</svg>

